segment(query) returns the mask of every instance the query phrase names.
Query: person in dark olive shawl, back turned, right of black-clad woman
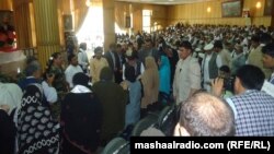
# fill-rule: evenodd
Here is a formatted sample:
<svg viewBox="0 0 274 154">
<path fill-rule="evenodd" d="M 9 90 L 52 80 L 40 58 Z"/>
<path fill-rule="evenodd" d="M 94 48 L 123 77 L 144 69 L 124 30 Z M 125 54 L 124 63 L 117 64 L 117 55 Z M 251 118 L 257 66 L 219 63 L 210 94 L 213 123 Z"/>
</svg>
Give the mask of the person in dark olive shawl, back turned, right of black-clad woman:
<svg viewBox="0 0 274 154">
<path fill-rule="evenodd" d="M 127 94 L 114 82 L 113 71 L 109 67 L 102 69 L 100 81 L 93 84 L 92 92 L 103 109 L 101 144 L 104 145 L 125 127 Z"/>
</svg>

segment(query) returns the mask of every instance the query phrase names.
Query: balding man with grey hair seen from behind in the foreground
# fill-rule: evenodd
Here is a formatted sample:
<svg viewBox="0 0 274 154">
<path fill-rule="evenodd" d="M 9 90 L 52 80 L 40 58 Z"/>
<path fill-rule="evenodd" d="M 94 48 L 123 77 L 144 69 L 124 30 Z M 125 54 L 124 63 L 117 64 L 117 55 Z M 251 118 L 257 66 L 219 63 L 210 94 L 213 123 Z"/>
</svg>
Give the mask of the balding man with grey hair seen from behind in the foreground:
<svg viewBox="0 0 274 154">
<path fill-rule="evenodd" d="M 218 97 L 199 92 L 186 99 L 174 129 L 175 137 L 226 137 L 235 134 L 231 108 Z"/>
</svg>

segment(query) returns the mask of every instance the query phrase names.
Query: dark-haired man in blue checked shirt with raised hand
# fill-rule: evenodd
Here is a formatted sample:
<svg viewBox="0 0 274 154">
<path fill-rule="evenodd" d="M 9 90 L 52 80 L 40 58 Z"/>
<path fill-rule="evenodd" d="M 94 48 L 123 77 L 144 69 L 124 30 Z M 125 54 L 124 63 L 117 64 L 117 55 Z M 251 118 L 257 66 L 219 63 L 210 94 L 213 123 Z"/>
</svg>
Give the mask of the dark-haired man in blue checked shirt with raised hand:
<svg viewBox="0 0 274 154">
<path fill-rule="evenodd" d="M 254 66 L 236 72 L 235 96 L 227 98 L 235 112 L 236 135 L 274 135 L 274 97 L 261 91 L 265 75 Z M 213 81 L 213 93 L 221 95 L 224 79 Z"/>
</svg>

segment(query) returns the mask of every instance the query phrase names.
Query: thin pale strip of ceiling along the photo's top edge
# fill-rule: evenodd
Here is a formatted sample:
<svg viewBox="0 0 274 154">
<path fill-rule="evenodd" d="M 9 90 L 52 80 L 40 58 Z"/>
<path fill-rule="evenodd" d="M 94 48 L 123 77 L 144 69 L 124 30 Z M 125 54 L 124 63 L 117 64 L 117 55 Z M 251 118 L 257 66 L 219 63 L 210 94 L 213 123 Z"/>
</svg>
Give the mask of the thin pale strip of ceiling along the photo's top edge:
<svg viewBox="0 0 274 154">
<path fill-rule="evenodd" d="M 194 3 L 209 0 L 116 0 L 125 2 L 137 2 L 137 3 L 151 3 L 151 4 L 183 4 L 183 3 Z"/>
</svg>

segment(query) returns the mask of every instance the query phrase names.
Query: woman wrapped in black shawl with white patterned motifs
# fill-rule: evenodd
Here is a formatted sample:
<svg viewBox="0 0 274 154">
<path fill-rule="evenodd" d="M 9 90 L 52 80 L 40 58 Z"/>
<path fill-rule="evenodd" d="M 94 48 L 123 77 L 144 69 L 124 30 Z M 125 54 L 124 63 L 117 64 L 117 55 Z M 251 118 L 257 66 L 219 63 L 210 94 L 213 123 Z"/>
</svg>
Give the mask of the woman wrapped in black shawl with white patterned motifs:
<svg viewBox="0 0 274 154">
<path fill-rule="evenodd" d="M 19 154 L 55 154 L 58 152 L 58 126 L 43 102 L 39 84 L 30 84 L 23 94 L 18 120 Z"/>
</svg>

